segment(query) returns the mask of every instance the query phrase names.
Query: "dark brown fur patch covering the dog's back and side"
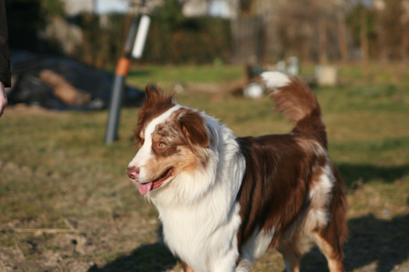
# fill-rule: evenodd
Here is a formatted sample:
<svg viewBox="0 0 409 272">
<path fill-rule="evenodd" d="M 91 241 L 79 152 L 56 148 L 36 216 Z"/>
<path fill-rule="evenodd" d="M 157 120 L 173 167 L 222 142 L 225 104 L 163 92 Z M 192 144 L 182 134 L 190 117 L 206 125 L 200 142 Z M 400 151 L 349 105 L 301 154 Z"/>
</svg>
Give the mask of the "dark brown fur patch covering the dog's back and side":
<svg viewBox="0 0 409 272">
<path fill-rule="evenodd" d="M 240 216 L 239 244 L 257 227 L 277 227 L 282 237 L 306 203 L 311 163 L 292 135 L 238 138 L 246 159 L 243 184 L 238 193 Z M 307 162 L 308 165 L 305 165 Z M 274 238 L 273 243 L 277 242 Z"/>
</svg>

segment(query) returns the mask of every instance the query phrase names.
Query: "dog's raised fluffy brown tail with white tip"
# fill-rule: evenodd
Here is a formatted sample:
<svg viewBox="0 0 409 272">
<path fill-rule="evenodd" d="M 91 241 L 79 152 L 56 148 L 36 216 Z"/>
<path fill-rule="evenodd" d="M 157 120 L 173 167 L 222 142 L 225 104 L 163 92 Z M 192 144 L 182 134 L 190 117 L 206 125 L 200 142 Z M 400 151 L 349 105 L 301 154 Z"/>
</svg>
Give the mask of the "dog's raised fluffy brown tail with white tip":
<svg viewBox="0 0 409 272">
<path fill-rule="evenodd" d="M 273 90 L 276 110 L 296 123 L 292 133 L 312 137 L 327 149 L 327 133 L 320 105 L 311 89 L 299 79 L 281 72 L 263 72 L 261 77 L 267 89 Z"/>
</svg>

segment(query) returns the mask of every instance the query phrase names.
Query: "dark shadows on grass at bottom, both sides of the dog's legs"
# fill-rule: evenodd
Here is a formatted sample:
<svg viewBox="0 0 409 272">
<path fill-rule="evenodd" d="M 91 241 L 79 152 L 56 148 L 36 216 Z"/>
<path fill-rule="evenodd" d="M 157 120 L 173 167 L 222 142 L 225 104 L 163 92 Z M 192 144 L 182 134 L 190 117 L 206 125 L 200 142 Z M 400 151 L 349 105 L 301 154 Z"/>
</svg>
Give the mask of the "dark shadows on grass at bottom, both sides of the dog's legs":
<svg viewBox="0 0 409 272">
<path fill-rule="evenodd" d="M 409 257 L 409 215 L 392 220 L 367 215 L 348 221 L 350 237 L 344 245 L 345 270 L 371 266 L 371 271 L 392 271 Z M 165 271 L 172 269 L 177 259 L 160 241 L 141 245 L 131 254 L 119 257 L 104 267 L 91 267 L 88 272 Z M 316 247 L 305 254 L 302 271 L 328 271 L 327 261 Z"/>
</svg>

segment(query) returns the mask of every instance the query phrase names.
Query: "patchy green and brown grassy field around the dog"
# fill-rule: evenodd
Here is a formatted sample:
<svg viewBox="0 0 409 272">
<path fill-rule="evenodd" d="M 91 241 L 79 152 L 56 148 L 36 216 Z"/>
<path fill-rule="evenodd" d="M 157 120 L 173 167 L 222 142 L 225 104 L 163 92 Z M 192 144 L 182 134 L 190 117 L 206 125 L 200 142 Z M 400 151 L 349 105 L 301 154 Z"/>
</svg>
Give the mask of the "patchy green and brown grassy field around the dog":
<svg viewBox="0 0 409 272">
<path fill-rule="evenodd" d="M 304 75 L 312 71 L 303 70 Z M 238 136 L 285 133 L 267 97 L 231 95 L 241 67 L 141 67 L 143 87 L 202 84 L 179 104 L 220 118 Z M 332 160 L 346 182 L 348 271 L 409 271 L 409 71 L 374 64 L 339 67 L 337 87 L 314 88 Z M 219 89 L 215 86 L 220 86 Z M 106 111 L 56 112 L 22 105 L 0 118 L 0 271 L 171 271 L 181 265 L 162 242 L 155 208 L 128 181 L 138 108 L 122 110 L 118 142 L 103 142 Z M 303 271 L 327 271 L 316 248 Z M 268 250 L 254 271 L 282 271 Z"/>
</svg>

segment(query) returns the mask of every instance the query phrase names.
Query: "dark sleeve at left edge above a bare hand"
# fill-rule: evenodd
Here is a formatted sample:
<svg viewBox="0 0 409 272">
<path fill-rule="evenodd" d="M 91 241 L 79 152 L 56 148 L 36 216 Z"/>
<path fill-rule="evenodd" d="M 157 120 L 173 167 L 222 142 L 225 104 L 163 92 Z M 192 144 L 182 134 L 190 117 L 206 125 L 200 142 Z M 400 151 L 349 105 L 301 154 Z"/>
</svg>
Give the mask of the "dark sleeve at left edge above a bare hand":
<svg viewBox="0 0 409 272">
<path fill-rule="evenodd" d="M 7 30 L 6 1 L 0 0 L 0 81 L 11 87 L 10 47 Z"/>
</svg>

